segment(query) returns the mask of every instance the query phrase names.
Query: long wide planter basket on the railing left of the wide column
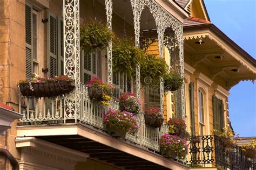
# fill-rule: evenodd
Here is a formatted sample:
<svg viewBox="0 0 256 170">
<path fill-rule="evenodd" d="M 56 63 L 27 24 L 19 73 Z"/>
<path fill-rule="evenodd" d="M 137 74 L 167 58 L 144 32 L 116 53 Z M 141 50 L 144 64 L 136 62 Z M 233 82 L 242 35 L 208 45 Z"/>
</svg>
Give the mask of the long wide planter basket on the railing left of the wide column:
<svg viewBox="0 0 256 170">
<path fill-rule="evenodd" d="M 20 80 L 17 86 L 26 97 L 53 97 L 70 93 L 75 83 L 66 75 L 45 78 L 35 74 L 31 80 Z"/>
</svg>

